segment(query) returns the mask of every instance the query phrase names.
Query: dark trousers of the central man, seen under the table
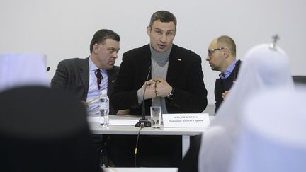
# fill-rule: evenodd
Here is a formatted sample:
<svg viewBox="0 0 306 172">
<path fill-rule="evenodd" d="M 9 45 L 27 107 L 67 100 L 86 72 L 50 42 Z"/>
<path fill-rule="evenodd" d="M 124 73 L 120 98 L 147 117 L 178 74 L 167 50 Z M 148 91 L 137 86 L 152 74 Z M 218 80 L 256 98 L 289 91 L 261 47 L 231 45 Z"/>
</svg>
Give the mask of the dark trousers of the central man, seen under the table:
<svg viewBox="0 0 306 172">
<path fill-rule="evenodd" d="M 137 167 L 181 166 L 181 136 L 140 135 L 137 148 Z M 106 149 L 117 167 L 135 166 L 137 135 L 111 135 Z"/>
</svg>

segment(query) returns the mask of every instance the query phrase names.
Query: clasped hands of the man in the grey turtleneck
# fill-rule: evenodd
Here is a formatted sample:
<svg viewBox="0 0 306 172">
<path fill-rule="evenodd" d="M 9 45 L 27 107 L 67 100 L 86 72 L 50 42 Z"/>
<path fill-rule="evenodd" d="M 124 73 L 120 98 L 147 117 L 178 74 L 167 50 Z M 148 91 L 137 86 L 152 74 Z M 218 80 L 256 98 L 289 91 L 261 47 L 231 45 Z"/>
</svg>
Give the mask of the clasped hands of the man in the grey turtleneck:
<svg viewBox="0 0 306 172">
<path fill-rule="evenodd" d="M 145 86 L 147 88 L 145 90 Z M 151 79 L 140 88 L 142 93 L 145 91 L 145 100 L 155 97 L 166 97 L 172 91 L 172 86 L 170 86 L 164 79 L 157 77 L 156 79 Z"/>
</svg>

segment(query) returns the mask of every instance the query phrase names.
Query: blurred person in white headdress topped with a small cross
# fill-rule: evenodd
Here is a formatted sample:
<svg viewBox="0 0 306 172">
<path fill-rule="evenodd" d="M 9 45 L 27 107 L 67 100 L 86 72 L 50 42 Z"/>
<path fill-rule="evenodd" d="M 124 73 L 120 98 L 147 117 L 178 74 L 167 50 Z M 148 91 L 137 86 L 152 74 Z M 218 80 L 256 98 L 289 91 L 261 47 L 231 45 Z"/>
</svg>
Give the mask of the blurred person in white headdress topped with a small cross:
<svg viewBox="0 0 306 172">
<path fill-rule="evenodd" d="M 268 44 L 251 48 L 231 93 L 220 106 L 208 131 L 203 133 L 198 159 L 200 172 L 229 170 L 246 101 L 257 93 L 277 88 L 294 88 L 288 56 L 280 47 Z"/>
</svg>

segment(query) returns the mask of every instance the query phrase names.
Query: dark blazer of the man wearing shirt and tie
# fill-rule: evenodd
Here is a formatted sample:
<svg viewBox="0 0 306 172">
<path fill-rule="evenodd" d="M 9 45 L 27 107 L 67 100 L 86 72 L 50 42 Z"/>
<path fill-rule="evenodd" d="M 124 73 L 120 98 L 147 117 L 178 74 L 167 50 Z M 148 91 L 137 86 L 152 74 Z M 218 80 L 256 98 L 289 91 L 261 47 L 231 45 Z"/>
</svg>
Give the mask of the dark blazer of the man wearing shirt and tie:
<svg viewBox="0 0 306 172">
<path fill-rule="evenodd" d="M 119 67 L 108 70 L 108 97 L 111 97 L 113 85 Z M 81 101 L 86 101 L 89 89 L 89 57 L 86 59 L 64 59 L 57 66 L 55 76 L 51 80 L 51 88 L 72 91 Z M 116 114 L 110 104 L 110 114 Z"/>
</svg>

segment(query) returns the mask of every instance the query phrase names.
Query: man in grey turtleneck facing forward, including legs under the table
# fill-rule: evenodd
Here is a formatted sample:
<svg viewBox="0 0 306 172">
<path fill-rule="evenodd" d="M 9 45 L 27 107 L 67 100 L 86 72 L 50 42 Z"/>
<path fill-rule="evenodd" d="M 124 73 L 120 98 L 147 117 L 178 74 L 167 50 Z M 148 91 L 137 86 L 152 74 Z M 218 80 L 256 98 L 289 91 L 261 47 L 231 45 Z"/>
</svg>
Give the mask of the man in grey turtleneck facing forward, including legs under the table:
<svg viewBox="0 0 306 172">
<path fill-rule="evenodd" d="M 113 107 L 130 109 L 130 115 L 142 115 L 145 99 L 146 115 L 149 115 L 151 105 L 161 106 L 163 114 L 201 113 L 208 103 L 201 58 L 195 52 L 173 44 L 176 17 L 169 11 L 153 13 L 147 35 L 150 38 L 148 45 L 123 54 L 111 96 Z M 146 82 L 148 74 L 149 81 Z M 116 166 L 134 166 L 135 141 L 136 137 L 126 136 L 108 144 L 114 151 L 118 151 L 117 147 L 128 148 L 120 149 L 118 158 L 112 157 Z M 181 149 L 179 136 L 142 135 L 135 165 L 179 167 Z"/>
</svg>

